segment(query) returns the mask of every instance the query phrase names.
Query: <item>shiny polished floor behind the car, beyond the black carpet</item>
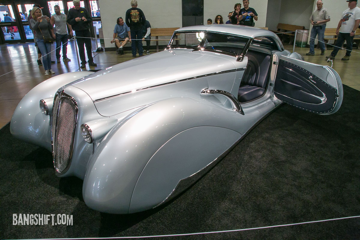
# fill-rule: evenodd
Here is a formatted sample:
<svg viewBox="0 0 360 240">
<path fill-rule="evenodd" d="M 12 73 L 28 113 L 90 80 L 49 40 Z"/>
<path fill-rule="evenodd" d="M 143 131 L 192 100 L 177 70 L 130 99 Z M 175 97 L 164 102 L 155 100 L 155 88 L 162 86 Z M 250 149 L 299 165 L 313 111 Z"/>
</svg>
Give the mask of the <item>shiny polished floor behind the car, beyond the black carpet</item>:
<svg viewBox="0 0 360 240">
<path fill-rule="evenodd" d="M 292 51 L 292 46 L 286 46 L 287 50 Z M 55 44 L 52 50 L 55 49 Z M 0 128 L 8 123 L 12 114 L 23 96 L 40 82 L 62 73 L 78 71 L 78 63 L 75 50 L 75 42 L 69 41 L 68 58 L 71 62 L 60 62 L 52 65 L 51 69 L 55 74 L 45 76 L 44 67 L 38 66 L 37 50 L 33 43 L 26 44 L 3 44 L 0 45 Z M 295 51 L 302 54 L 305 61 L 321 65 L 330 65 L 325 60 L 331 49 L 325 51 L 324 56 L 320 56 L 320 50 L 316 51 L 315 56 L 306 56 L 309 48 L 296 47 Z M 354 49 L 349 61 L 342 61 L 345 50 L 339 51 L 337 58 L 334 60 L 333 68 L 339 73 L 343 84 L 348 85 L 360 91 L 360 50 Z M 154 53 L 155 51 L 150 51 Z M 115 51 L 93 53 L 94 62 L 97 67 L 87 69 L 104 69 L 111 65 L 125 62 L 132 59 L 131 51 L 125 51 L 124 55 L 116 55 Z M 51 54 L 52 60 L 55 60 L 55 52 Z"/>
</svg>

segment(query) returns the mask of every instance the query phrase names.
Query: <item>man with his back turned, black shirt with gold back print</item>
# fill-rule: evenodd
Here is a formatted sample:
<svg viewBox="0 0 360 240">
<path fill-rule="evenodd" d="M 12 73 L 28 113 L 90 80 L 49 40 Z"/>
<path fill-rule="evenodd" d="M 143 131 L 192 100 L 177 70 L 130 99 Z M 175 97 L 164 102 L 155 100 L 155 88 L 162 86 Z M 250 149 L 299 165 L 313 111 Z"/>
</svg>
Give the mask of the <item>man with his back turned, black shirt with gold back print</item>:
<svg viewBox="0 0 360 240">
<path fill-rule="evenodd" d="M 131 51 L 134 58 L 136 57 L 136 48 L 138 48 L 139 56 L 143 55 L 143 43 L 141 39 L 143 38 L 145 20 L 143 11 L 138 8 L 138 1 L 131 0 L 131 8 L 126 11 L 125 23 L 130 27 Z"/>
</svg>

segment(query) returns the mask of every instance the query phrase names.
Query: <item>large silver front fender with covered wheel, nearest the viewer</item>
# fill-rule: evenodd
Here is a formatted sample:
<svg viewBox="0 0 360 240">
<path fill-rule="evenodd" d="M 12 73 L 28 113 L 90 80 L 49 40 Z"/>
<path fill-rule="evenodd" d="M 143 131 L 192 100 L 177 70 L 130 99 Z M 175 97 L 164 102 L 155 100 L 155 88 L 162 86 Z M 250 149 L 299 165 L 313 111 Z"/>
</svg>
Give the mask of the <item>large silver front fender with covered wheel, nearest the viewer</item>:
<svg viewBox="0 0 360 240">
<path fill-rule="evenodd" d="M 122 214 L 155 207 L 179 180 L 206 167 L 240 139 L 234 129 L 241 117 L 193 98 L 166 99 L 140 109 L 96 149 L 84 178 L 85 203 L 100 212 Z M 203 152 L 208 149 L 210 154 Z M 161 177 L 154 179 L 156 175 Z M 158 185 L 162 181 L 168 183 Z M 144 193 L 151 196 L 144 198 Z"/>
</svg>

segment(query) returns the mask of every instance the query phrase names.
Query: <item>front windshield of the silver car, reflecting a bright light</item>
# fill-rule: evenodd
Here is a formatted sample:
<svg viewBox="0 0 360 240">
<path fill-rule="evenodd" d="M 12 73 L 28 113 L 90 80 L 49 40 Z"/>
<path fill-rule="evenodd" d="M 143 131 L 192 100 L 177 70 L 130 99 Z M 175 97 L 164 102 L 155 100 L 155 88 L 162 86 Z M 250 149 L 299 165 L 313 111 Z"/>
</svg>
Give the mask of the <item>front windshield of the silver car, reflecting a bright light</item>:
<svg viewBox="0 0 360 240">
<path fill-rule="evenodd" d="M 176 32 L 170 41 L 169 48 L 187 48 L 194 50 L 215 51 L 239 56 L 249 42 L 249 37 L 219 32 Z"/>
</svg>

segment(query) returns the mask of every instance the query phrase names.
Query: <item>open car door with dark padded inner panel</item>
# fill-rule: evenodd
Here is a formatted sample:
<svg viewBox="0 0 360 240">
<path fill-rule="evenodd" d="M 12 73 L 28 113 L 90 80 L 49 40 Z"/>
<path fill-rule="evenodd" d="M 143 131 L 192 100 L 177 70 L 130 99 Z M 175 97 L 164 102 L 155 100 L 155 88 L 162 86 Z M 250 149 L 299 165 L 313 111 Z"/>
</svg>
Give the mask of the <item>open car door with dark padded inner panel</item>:
<svg viewBox="0 0 360 240">
<path fill-rule="evenodd" d="M 334 69 L 287 56 L 280 56 L 274 92 L 285 103 L 324 115 L 335 113 L 343 96 Z"/>
</svg>

